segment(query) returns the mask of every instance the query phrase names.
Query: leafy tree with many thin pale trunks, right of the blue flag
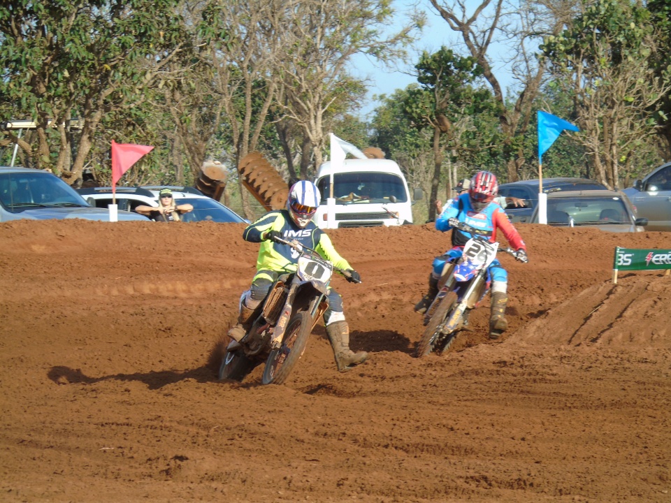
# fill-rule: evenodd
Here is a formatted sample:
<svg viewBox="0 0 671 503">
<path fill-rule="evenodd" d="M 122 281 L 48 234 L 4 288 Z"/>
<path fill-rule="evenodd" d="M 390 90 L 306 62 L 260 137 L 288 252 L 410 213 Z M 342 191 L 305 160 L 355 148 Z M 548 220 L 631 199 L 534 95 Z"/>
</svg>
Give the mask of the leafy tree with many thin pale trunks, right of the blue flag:
<svg viewBox="0 0 671 503">
<path fill-rule="evenodd" d="M 657 48 L 650 13 L 628 0 L 600 0 L 586 6 L 572 28 L 545 38 L 541 49 L 557 82 L 573 96 L 580 133 L 575 135 L 607 187 L 621 180 L 649 154 L 649 138 L 670 85 L 651 66 Z"/>
</svg>

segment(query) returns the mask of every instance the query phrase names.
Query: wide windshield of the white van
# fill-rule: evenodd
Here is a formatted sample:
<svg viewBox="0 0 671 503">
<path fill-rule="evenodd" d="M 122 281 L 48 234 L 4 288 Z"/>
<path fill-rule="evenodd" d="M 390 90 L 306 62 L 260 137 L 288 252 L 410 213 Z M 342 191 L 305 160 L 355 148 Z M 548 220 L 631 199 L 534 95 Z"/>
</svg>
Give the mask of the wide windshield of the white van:
<svg viewBox="0 0 671 503">
<path fill-rule="evenodd" d="M 322 193 L 322 203 L 331 192 L 331 180 L 325 176 L 317 180 Z M 333 197 L 340 204 L 396 203 L 407 202 L 407 191 L 403 179 L 391 173 L 335 173 L 333 175 Z"/>
</svg>

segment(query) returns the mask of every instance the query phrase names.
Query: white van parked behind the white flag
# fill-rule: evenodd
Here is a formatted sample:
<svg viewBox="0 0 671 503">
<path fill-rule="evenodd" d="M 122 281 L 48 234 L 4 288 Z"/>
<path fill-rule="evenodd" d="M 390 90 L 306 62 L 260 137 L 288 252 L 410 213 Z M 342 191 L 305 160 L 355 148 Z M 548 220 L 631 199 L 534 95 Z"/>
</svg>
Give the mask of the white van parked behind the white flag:
<svg viewBox="0 0 671 503">
<path fill-rule="evenodd" d="M 331 196 L 331 175 L 335 220 L 329 222 L 326 200 Z M 319 228 L 412 224 L 410 191 L 401 168 L 391 159 L 346 159 L 341 168 L 326 162 L 319 166 L 315 184 L 322 193 L 315 214 Z"/>
</svg>

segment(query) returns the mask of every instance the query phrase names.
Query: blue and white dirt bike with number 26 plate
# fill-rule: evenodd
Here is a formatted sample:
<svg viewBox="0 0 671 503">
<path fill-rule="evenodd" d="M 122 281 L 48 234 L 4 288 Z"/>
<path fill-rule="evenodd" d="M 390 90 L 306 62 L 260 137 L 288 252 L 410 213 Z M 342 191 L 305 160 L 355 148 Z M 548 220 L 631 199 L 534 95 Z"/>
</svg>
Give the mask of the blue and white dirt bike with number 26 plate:
<svg viewBox="0 0 671 503">
<path fill-rule="evenodd" d="M 505 251 L 521 262 L 527 262 L 524 254 L 512 248 L 499 248 L 491 243 L 491 233 L 449 219 L 450 226 L 469 233 L 472 238 L 463 247 L 463 254 L 456 263 L 447 262 L 438 281 L 438 293 L 424 315 L 424 335 L 417 346 L 417 357 L 433 351 L 447 351 L 457 334 L 468 323 L 471 309 L 489 292 L 491 275 L 489 265 L 498 251 Z"/>
</svg>

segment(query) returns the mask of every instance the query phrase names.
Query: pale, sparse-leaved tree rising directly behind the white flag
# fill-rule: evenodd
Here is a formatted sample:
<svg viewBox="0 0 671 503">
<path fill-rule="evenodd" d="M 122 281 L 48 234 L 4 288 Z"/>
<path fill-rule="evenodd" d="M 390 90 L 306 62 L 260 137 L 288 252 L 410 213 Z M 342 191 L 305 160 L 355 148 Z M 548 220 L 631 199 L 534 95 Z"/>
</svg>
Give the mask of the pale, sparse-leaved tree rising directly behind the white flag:
<svg viewBox="0 0 671 503">
<path fill-rule="evenodd" d="M 395 34 L 384 34 L 394 10 L 391 0 L 333 2 L 295 1 L 289 39 L 277 61 L 285 99 L 284 114 L 303 129 L 303 147 L 311 147 L 316 166 L 326 150 L 325 117 L 333 117 L 334 104 L 350 105 L 362 96 L 361 82 L 347 74 L 354 54 L 363 53 L 382 61 L 405 54 L 403 44 L 412 41 L 412 31 L 421 28 L 416 15 Z M 301 167 L 305 176 L 307 166 Z"/>
</svg>

